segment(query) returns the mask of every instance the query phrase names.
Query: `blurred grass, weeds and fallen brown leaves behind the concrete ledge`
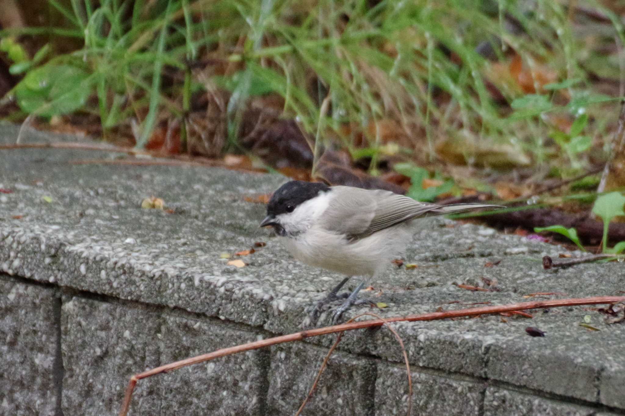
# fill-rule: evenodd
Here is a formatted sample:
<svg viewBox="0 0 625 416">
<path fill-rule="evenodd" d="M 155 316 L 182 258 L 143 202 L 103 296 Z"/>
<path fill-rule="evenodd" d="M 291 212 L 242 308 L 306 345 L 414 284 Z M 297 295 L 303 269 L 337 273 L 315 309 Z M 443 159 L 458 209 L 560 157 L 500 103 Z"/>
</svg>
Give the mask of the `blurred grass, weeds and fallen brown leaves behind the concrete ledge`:
<svg viewBox="0 0 625 416">
<path fill-rule="evenodd" d="M 422 200 L 596 188 L 625 95 L 622 0 L 0 9 L 7 122 L 331 183 L 408 178 Z"/>
</svg>

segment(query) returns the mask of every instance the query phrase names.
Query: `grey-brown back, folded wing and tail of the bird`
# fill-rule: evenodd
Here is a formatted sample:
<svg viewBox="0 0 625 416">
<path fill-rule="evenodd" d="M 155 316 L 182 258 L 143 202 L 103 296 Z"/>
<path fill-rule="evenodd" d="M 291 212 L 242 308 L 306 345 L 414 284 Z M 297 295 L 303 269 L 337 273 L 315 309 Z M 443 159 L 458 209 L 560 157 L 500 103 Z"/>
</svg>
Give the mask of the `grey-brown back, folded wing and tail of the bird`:
<svg viewBox="0 0 625 416">
<path fill-rule="evenodd" d="M 437 205 L 415 201 L 390 191 L 364 190 L 352 186 L 332 186 L 331 190 L 335 195 L 322 215 L 321 226 L 345 234 L 348 239 L 363 238 L 422 216 L 499 207 L 479 203 Z"/>
</svg>

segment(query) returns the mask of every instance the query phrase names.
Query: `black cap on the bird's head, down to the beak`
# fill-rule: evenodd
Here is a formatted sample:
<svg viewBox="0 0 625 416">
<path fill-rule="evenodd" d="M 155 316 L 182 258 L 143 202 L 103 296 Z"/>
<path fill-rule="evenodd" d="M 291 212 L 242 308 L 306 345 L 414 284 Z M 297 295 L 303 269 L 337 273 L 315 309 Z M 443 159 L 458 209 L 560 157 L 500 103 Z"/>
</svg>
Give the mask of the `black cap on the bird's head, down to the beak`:
<svg viewBox="0 0 625 416">
<path fill-rule="evenodd" d="M 319 195 L 321 191 L 329 191 L 324 183 L 290 181 L 277 188 L 267 205 L 267 216 L 261 221 L 261 227 L 276 226 L 276 216 L 292 212 L 297 205 Z"/>
</svg>

